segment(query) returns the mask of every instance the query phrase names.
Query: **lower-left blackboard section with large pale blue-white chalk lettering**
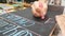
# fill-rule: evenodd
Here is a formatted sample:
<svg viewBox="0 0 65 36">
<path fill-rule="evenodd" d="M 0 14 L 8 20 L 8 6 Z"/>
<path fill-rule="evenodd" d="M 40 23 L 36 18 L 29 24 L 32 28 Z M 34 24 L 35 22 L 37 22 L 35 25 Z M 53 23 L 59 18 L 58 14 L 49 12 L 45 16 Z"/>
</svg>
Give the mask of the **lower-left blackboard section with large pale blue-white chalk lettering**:
<svg viewBox="0 0 65 36">
<path fill-rule="evenodd" d="M 2 23 L 1 23 L 2 22 Z M 0 36 L 38 36 L 29 30 L 0 18 Z"/>
</svg>

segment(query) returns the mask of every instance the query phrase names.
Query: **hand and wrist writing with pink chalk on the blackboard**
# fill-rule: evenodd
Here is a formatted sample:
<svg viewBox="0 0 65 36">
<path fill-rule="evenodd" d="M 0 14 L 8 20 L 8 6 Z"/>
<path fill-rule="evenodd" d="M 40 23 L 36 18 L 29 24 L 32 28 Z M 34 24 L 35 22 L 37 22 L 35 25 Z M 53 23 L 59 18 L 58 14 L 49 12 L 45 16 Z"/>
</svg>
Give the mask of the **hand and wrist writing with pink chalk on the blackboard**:
<svg viewBox="0 0 65 36">
<path fill-rule="evenodd" d="M 39 2 L 42 3 L 43 7 L 39 7 Z M 41 17 L 41 19 L 44 19 L 44 16 L 47 14 L 47 10 L 48 10 L 48 3 L 47 3 L 47 0 L 39 0 L 39 1 L 36 1 L 32 5 L 31 5 L 31 8 L 32 8 L 32 14 L 34 16 L 36 17 Z"/>
</svg>

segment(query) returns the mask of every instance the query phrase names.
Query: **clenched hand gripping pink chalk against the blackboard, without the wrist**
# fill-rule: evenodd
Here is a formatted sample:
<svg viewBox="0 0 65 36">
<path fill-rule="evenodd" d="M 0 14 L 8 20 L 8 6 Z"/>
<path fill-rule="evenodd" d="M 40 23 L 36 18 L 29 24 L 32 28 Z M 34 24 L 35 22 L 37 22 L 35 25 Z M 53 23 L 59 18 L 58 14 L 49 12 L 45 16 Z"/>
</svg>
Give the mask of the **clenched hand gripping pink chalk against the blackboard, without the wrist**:
<svg viewBox="0 0 65 36">
<path fill-rule="evenodd" d="M 44 16 L 47 14 L 47 3 L 40 1 L 34 2 L 31 8 L 32 8 L 32 14 L 36 17 L 41 17 L 41 19 L 44 19 Z"/>
</svg>

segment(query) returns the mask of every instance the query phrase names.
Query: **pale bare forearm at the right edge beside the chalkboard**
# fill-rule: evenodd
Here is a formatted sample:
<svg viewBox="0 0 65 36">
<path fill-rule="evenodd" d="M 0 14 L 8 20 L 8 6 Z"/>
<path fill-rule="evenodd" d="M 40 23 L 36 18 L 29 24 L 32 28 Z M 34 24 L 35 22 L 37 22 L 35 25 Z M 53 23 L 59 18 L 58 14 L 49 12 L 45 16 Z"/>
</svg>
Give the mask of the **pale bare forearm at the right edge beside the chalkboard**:
<svg viewBox="0 0 65 36">
<path fill-rule="evenodd" d="M 55 18 L 56 18 L 56 22 L 62 31 L 62 36 L 65 36 L 65 15 L 58 15 Z"/>
</svg>

